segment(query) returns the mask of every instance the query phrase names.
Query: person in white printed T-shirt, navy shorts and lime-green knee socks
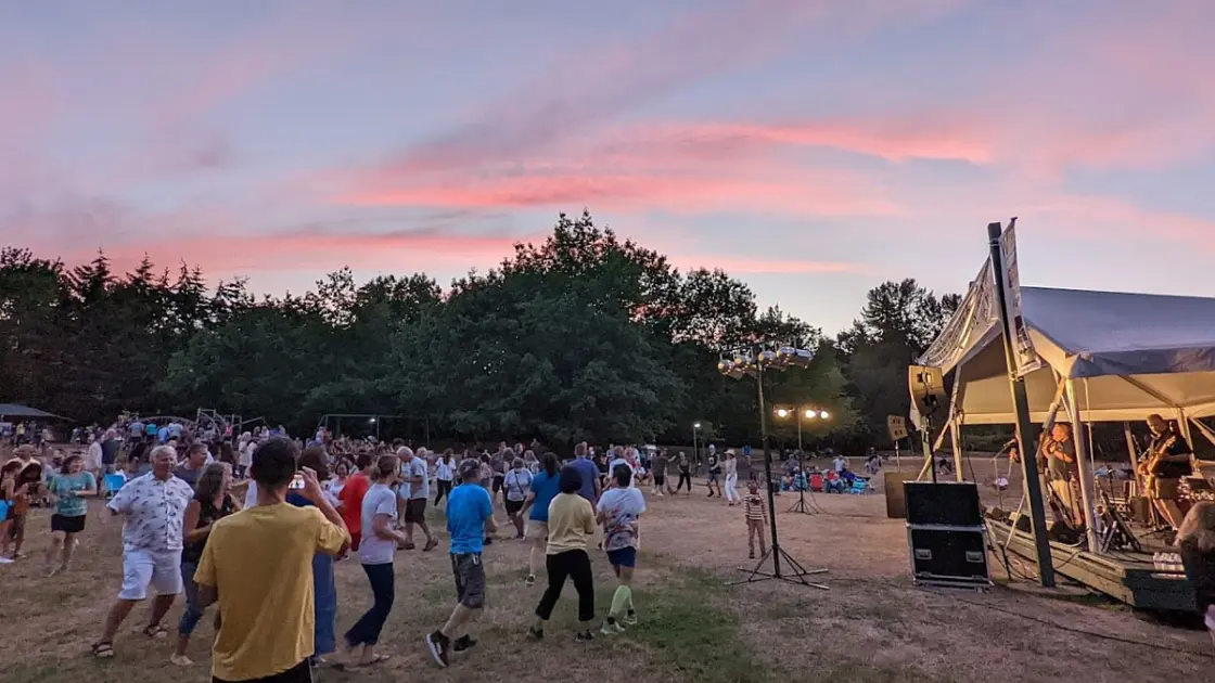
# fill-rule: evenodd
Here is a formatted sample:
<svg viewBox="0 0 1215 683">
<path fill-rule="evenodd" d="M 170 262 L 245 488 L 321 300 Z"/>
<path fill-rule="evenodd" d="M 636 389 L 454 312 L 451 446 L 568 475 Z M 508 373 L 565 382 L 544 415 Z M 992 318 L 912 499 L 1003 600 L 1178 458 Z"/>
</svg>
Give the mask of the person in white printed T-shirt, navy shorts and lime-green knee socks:
<svg viewBox="0 0 1215 683">
<path fill-rule="evenodd" d="M 608 561 L 616 572 L 618 586 L 611 599 L 611 611 L 604 621 L 604 634 L 621 633 L 620 625 L 637 623 L 637 611 L 633 608 L 633 570 L 637 568 L 637 548 L 639 540 L 638 523 L 645 512 L 645 498 L 642 491 L 632 486 L 633 472 L 628 465 L 620 464 L 612 469 L 612 487 L 599 497 L 595 520 L 604 526 L 604 549 Z M 626 611 L 627 610 L 627 611 Z M 621 617 L 621 613 L 625 613 Z"/>
</svg>

